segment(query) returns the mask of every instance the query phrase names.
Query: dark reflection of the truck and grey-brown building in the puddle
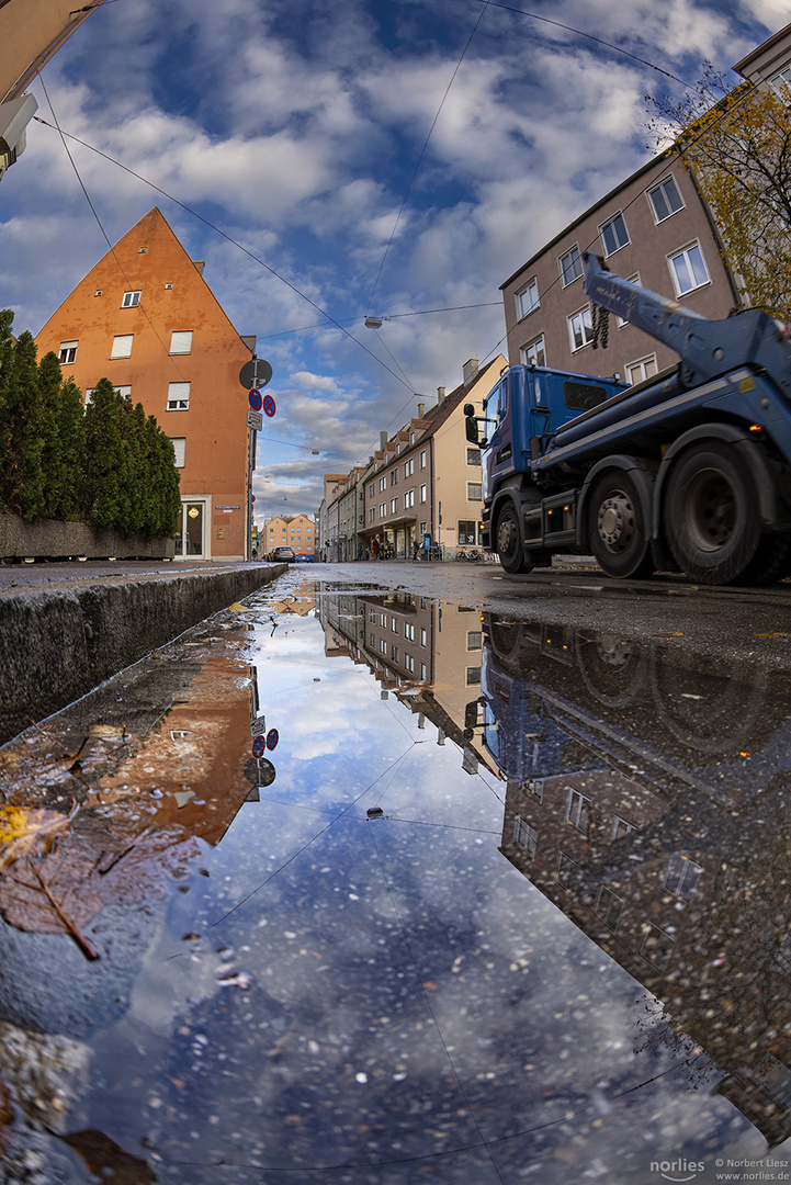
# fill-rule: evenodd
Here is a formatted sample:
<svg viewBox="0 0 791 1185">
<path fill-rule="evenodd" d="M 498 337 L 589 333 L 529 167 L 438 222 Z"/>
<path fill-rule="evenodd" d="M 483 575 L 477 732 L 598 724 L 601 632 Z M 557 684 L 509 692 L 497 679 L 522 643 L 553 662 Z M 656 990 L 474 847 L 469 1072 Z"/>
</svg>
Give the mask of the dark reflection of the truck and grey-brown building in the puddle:
<svg viewBox="0 0 791 1185">
<path fill-rule="evenodd" d="M 780 679 L 484 620 L 501 851 L 656 998 L 645 1044 L 700 1055 L 791 1135 L 791 704 Z"/>
</svg>

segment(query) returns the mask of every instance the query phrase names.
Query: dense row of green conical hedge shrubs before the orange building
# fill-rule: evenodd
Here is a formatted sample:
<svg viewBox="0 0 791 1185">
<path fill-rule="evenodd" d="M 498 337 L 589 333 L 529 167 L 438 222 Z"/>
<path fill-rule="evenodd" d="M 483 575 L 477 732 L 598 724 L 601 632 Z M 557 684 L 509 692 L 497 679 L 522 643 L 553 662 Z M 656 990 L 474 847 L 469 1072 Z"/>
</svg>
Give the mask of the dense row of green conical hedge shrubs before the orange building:
<svg viewBox="0 0 791 1185">
<path fill-rule="evenodd" d="M 0 310 L 0 513 L 175 534 L 181 499 L 169 437 L 108 378 L 83 408 L 54 353 L 37 361 Z"/>
</svg>

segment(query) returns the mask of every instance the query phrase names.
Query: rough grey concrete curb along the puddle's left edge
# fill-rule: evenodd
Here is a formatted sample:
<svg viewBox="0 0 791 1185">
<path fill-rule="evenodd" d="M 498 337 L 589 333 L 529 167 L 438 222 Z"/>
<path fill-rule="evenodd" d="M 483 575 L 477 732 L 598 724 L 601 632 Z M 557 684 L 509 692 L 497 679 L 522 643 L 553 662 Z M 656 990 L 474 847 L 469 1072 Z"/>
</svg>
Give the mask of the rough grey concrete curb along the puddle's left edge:
<svg viewBox="0 0 791 1185">
<path fill-rule="evenodd" d="M 258 564 L 4 595 L 0 744 L 284 570 Z"/>
</svg>

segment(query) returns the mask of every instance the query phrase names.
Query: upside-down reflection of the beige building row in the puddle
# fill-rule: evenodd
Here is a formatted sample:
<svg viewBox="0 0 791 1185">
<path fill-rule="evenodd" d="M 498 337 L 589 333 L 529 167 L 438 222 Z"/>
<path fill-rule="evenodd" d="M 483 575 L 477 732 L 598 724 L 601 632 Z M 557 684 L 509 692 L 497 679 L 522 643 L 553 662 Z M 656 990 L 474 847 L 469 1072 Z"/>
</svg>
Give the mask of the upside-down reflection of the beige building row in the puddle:
<svg viewBox="0 0 791 1185">
<path fill-rule="evenodd" d="M 500 767 L 476 739 L 481 690 L 482 632 L 477 610 L 401 590 L 334 590 L 319 600 L 327 655 L 349 656 L 452 741 L 462 766 L 475 774 L 483 763 Z"/>
</svg>

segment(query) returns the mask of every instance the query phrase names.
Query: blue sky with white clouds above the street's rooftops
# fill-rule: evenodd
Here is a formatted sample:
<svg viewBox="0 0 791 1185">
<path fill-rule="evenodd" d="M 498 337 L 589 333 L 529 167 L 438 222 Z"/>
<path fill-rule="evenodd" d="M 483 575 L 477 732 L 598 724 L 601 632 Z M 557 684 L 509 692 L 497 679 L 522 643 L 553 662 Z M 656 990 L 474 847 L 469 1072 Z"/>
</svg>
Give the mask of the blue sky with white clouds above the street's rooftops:
<svg viewBox="0 0 791 1185">
<path fill-rule="evenodd" d="M 28 127 L 0 182 L 0 306 L 38 333 L 157 205 L 272 366 L 256 520 L 314 513 L 324 473 L 502 350 L 503 281 L 649 159 L 645 95 L 787 19 L 786 0 L 105 0 L 30 87 L 104 156 L 69 140 L 78 178 Z"/>
</svg>

